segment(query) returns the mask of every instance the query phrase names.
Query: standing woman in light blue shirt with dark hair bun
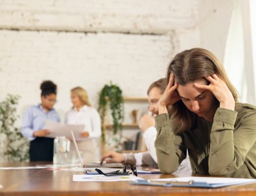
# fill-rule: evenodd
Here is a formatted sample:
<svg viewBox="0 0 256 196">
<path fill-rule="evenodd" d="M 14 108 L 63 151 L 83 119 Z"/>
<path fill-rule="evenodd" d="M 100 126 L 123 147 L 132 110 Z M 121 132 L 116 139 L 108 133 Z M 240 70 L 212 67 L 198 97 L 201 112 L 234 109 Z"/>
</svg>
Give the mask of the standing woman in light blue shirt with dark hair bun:
<svg viewBox="0 0 256 196">
<path fill-rule="evenodd" d="M 40 85 L 41 103 L 28 108 L 23 116 L 22 134 L 30 140 L 30 161 L 53 160 L 53 138 L 44 129 L 47 120 L 60 122 L 59 115 L 53 106 L 56 103 L 57 85 L 44 81 Z"/>
</svg>

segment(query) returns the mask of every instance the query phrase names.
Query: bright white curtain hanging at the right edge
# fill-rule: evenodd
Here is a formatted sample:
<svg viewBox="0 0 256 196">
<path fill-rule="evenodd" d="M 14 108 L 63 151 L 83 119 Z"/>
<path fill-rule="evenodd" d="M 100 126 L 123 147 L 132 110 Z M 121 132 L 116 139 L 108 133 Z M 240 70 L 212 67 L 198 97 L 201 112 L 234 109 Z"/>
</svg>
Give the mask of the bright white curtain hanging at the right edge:
<svg viewBox="0 0 256 196">
<path fill-rule="evenodd" d="M 236 0 L 226 41 L 224 66 L 242 102 L 255 104 L 249 0 Z"/>
</svg>

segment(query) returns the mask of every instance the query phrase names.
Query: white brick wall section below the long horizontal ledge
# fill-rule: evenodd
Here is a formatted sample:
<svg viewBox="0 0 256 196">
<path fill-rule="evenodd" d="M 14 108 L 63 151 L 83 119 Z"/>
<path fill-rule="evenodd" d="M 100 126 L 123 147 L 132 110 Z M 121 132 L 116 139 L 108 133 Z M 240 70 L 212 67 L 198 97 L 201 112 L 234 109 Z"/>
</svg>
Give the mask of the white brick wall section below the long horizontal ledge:
<svg viewBox="0 0 256 196">
<path fill-rule="evenodd" d="M 97 92 L 111 80 L 126 96 L 146 96 L 148 84 L 165 76 L 176 47 L 171 40 L 165 35 L 2 30 L 1 99 L 7 93 L 21 95 L 23 111 L 39 102 L 40 82 L 51 79 L 58 84 L 56 108 L 63 117 L 71 107 L 69 91 L 77 85 L 94 105 Z"/>
</svg>

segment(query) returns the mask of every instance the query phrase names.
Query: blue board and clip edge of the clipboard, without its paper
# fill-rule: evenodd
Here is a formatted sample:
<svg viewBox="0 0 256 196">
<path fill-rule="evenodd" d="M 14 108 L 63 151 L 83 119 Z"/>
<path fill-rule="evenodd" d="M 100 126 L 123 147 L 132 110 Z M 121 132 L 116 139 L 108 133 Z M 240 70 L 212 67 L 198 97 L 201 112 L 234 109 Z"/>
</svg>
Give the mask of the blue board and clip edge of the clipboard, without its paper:
<svg viewBox="0 0 256 196">
<path fill-rule="evenodd" d="M 135 180 L 131 184 L 134 185 L 151 185 L 151 186 L 164 186 L 164 187 L 201 187 L 213 188 L 206 182 L 195 182 L 193 180 L 188 182 L 179 181 L 156 181 L 156 180 Z"/>
</svg>

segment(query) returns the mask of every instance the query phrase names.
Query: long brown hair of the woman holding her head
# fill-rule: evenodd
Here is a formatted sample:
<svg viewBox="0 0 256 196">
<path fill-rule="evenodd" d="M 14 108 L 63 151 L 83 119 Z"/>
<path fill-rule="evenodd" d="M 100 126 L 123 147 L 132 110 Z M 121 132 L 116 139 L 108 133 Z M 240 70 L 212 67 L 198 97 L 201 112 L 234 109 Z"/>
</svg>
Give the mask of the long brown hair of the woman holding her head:
<svg viewBox="0 0 256 196">
<path fill-rule="evenodd" d="M 205 49 L 193 48 L 178 53 L 169 63 L 166 81 L 169 81 L 170 73 L 174 73 L 175 82 L 181 85 L 197 79 L 204 79 L 209 84 L 209 81 L 204 77 L 217 74 L 226 83 L 236 105 L 239 103 L 238 92 L 228 79 L 222 62 L 214 54 Z M 219 105 L 220 102 L 215 98 L 215 102 L 212 105 L 212 112 L 215 113 Z M 172 105 L 170 115 L 172 122 L 177 127 L 177 133 L 189 130 L 197 124 L 198 116 L 190 112 L 182 100 Z"/>
</svg>

